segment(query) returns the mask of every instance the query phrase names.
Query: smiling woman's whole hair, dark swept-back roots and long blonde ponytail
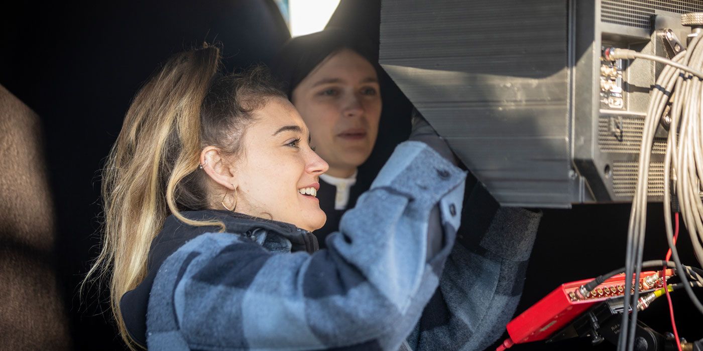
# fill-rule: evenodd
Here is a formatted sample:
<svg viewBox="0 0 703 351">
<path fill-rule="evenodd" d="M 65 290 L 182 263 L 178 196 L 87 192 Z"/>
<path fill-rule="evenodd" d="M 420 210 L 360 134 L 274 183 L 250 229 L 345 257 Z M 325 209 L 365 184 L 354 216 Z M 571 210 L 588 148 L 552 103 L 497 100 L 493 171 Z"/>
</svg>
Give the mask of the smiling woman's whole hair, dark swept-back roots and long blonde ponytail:
<svg viewBox="0 0 703 351">
<path fill-rule="evenodd" d="M 84 279 L 110 279 L 110 305 L 122 338 L 127 333 L 120 298 L 146 277 L 151 242 L 167 216 L 193 226 L 185 210 L 210 208 L 212 194 L 198 171 L 207 145 L 236 155 L 254 112 L 286 95 L 264 67 L 219 74 L 219 49 L 205 46 L 175 55 L 137 93 L 103 170 L 103 248 Z"/>
</svg>

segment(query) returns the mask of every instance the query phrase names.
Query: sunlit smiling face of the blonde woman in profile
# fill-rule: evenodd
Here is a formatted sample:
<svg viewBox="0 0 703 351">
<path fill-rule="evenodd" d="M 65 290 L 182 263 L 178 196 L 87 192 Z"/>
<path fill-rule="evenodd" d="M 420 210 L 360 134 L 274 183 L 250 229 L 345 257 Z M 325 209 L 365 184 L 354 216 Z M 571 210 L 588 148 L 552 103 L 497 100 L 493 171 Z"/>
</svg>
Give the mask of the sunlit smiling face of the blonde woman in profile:
<svg viewBox="0 0 703 351">
<path fill-rule="evenodd" d="M 308 128 L 290 102 L 273 98 L 256 114 L 235 163 L 236 211 L 319 229 L 326 216 L 315 194 L 328 164 L 311 149 Z"/>
</svg>

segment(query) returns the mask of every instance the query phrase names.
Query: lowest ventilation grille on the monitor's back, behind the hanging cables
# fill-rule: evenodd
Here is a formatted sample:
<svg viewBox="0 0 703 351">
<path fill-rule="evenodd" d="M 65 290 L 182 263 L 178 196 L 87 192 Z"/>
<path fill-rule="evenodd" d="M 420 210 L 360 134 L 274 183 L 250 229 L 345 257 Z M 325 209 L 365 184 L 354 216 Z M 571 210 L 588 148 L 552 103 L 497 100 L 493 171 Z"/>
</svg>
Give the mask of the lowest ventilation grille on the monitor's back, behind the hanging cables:
<svg viewBox="0 0 703 351">
<path fill-rule="evenodd" d="M 637 161 L 614 162 L 612 167 L 615 196 L 633 197 L 637 187 Z M 647 187 L 650 197 L 664 196 L 664 162 L 650 162 L 650 179 Z"/>
</svg>

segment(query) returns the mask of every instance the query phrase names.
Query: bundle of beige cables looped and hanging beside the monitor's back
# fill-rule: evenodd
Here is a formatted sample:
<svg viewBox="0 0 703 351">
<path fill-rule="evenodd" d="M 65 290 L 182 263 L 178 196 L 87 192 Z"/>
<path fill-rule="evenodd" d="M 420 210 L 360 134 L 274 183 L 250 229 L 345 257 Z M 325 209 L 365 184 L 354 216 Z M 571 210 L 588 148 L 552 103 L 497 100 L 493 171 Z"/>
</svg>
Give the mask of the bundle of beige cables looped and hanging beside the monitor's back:
<svg viewBox="0 0 703 351">
<path fill-rule="evenodd" d="M 635 275 L 635 282 L 642 272 L 643 249 L 645 243 L 645 222 L 647 218 L 647 185 L 649 166 L 654 143 L 654 133 L 664 114 L 669 112 L 669 139 L 664 159 L 664 219 L 666 237 L 676 269 L 685 272 L 673 244 L 671 228 L 671 188 L 676 190 L 683 220 L 691 235 L 696 258 L 703 265 L 703 201 L 699 187 L 703 184 L 703 35 L 694 37 L 687 51 L 678 53 L 672 60 L 636 51 L 608 48 L 607 60 L 643 58 L 666 64 L 659 74 L 657 84 L 651 94 L 650 105 L 645 117 L 643 140 L 640 148 L 638 183 L 633 197 L 628 227 L 625 274 Z M 673 180 L 673 181 L 672 181 Z M 671 187 L 669 185 L 671 184 Z M 679 274 L 682 286 L 697 309 L 703 314 L 703 305 L 693 293 L 686 274 Z M 638 289 L 632 290 L 633 281 L 626 279 L 624 311 L 635 306 L 639 298 Z M 627 292 L 634 291 L 633 296 Z M 618 350 L 631 351 L 634 347 L 637 322 L 637 308 L 632 315 L 622 314 L 621 333 Z"/>
</svg>

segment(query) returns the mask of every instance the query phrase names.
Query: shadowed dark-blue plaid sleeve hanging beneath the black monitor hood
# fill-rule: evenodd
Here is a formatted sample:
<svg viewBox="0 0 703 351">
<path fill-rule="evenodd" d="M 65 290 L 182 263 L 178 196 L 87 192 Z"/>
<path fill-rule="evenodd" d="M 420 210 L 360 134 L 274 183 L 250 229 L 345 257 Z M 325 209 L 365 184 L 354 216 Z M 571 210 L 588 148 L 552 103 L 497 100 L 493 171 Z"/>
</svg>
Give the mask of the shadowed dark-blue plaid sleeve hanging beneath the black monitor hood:
<svg viewBox="0 0 703 351">
<path fill-rule="evenodd" d="M 408 349 L 484 350 L 505 331 L 520 301 L 542 214 L 501 207 L 480 184 L 467 195 L 458 244 Z"/>
</svg>

